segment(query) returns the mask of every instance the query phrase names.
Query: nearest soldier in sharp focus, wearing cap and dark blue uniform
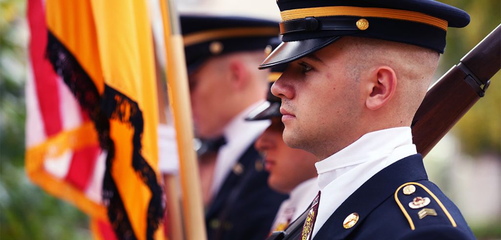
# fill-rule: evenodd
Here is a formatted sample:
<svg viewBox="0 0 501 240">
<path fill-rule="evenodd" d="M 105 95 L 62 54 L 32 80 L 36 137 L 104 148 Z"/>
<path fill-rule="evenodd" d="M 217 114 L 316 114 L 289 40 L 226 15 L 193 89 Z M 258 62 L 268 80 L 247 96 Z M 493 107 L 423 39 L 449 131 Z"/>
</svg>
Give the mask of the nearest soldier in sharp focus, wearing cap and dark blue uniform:
<svg viewBox="0 0 501 240">
<path fill-rule="evenodd" d="M 289 64 L 272 87 L 284 141 L 319 160 L 301 239 L 473 239 L 427 179 L 410 129 L 447 27 L 468 14 L 431 0 L 278 6 L 284 43 L 260 67 Z"/>
</svg>

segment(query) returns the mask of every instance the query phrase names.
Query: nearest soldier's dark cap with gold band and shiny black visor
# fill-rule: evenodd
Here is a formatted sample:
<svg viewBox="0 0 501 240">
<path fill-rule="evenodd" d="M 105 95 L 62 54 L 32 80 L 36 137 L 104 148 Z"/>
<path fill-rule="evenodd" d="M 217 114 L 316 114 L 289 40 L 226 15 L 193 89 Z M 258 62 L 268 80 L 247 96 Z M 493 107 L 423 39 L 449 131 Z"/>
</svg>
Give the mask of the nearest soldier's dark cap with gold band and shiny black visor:
<svg viewBox="0 0 501 240">
<path fill-rule="evenodd" d="M 343 36 L 412 44 L 439 53 L 447 27 L 468 25 L 469 15 L 433 0 L 277 0 L 281 44 L 260 69 L 290 63 Z"/>
</svg>

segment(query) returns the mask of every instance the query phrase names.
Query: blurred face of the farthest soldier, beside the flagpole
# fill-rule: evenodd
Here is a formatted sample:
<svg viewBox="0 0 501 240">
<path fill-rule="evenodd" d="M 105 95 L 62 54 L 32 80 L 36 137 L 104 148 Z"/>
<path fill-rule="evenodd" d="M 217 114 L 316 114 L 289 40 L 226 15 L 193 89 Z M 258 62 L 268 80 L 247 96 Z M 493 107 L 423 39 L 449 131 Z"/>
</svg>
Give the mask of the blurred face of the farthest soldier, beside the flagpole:
<svg viewBox="0 0 501 240">
<path fill-rule="evenodd" d="M 198 137 L 217 137 L 231 119 L 227 96 L 231 93 L 225 82 L 225 69 L 217 58 L 207 60 L 189 76 L 191 110 Z"/>
</svg>

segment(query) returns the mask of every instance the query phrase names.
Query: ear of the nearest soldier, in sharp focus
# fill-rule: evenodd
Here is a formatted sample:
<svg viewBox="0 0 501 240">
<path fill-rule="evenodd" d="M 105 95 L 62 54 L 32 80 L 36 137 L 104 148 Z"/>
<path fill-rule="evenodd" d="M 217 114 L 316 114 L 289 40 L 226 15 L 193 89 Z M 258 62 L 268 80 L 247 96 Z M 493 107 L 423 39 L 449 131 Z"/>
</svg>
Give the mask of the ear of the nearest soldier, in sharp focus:
<svg viewBox="0 0 501 240">
<path fill-rule="evenodd" d="M 397 75 L 388 66 L 379 66 L 369 73 L 365 106 L 377 110 L 386 105 L 397 89 Z"/>
</svg>

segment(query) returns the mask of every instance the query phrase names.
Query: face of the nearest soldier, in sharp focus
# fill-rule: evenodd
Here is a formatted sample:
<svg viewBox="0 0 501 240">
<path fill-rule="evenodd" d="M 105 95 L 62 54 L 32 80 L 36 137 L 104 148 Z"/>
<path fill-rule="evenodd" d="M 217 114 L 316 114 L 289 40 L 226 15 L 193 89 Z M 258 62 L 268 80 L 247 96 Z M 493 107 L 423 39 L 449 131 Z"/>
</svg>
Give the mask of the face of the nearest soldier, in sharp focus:
<svg viewBox="0 0 501 240">
<path fill-rule="evenodd" d="M 341 39 L 292 62 L 272 87 L 272 93 L 282 98 L 285 143 L 319 159 L 339 151 L 348 145 L 345 139 L 358 134 L 356 119 L 364 100 L 350 69 L 356 56 L 345 44 L 349 43 Z"/>
</svg>

